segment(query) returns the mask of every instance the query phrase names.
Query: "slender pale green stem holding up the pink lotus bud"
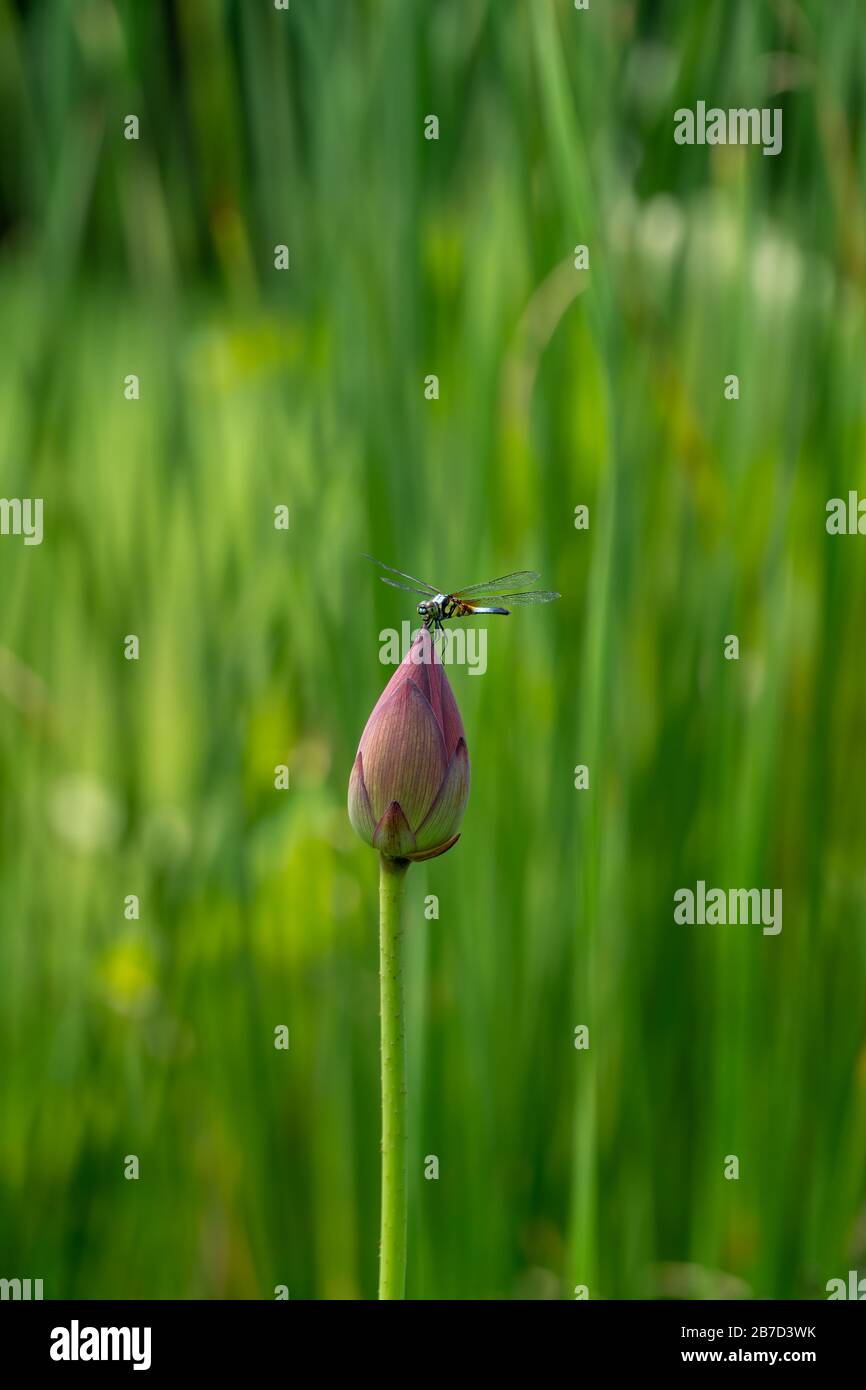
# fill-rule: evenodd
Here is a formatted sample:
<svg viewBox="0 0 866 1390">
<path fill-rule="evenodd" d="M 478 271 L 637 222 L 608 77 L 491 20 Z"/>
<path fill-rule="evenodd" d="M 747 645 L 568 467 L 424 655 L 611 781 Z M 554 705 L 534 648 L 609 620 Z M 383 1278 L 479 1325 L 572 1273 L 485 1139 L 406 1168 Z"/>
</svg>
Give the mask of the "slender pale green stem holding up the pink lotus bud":
<svg viewBox="0 0 866 1390">
<path fill-rule="evenodd" d="M 406 859 L 379 855 L 382 1016 L 382 1238 L 379 1298 L 406 1297 L 406 1031 L 400 902 Z"/>
</svg>

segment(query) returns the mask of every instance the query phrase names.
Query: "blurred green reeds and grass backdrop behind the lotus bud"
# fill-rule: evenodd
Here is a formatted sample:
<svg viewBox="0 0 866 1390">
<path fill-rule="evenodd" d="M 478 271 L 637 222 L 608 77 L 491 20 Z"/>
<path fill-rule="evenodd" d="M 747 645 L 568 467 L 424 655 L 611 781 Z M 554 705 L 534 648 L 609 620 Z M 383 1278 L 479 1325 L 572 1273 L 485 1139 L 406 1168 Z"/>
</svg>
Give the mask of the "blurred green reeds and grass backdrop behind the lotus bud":
<svg viewBox="0 0 866 1390">
<path fill-rule="evenodd" d="M 866 488 L 863 6 L 0 0 L 0 39 L 1 491 L 44 498 L 0 538 L 0 1276 L 375 1294 L 345 802 L 413 610 L 360 550 L 563 595 L 450 671 L 409 1295 L 866 1273 L 866 541 L 824 528 Z M 781 107 L 781 154 L 677 146 L 698 100 Z M 676 926 L 698 878 L 781 888 L 781 935 Z"/>
</svg>

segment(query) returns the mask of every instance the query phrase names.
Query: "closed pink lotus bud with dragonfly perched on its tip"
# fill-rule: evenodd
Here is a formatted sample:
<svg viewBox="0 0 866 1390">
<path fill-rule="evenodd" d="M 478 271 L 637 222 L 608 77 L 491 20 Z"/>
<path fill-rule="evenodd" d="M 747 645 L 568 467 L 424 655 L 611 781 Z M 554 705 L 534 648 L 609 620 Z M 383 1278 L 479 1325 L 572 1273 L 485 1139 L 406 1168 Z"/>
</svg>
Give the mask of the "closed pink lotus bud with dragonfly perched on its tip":
<svg viewBox="0 0 866 1390">
<path fill-rule="evenodd" d="M 445 667 L 421 628 L 382 691 L 349 778 L 349 819 L 389 859 L 434 859 L 460 838 L 468 752 Z"/>
</svg>

